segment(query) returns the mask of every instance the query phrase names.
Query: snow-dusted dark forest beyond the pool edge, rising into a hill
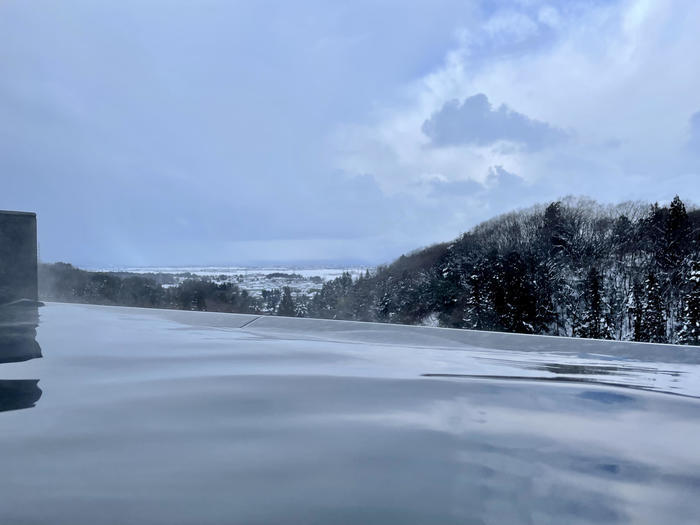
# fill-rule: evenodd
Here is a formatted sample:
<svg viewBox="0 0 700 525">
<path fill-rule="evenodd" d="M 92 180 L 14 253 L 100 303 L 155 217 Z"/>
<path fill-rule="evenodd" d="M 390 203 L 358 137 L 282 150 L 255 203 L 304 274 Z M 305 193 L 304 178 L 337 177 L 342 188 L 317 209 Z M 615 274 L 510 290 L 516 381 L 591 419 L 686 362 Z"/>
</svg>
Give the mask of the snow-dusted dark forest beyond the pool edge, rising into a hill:
<svg viewBox="0 0 700 525">
<path fill-rule="evenodd" d="M 700 344 L 700 210 L 568 198 L 311 295 L 43 265 L 47 299 Z"/>
</svg>

